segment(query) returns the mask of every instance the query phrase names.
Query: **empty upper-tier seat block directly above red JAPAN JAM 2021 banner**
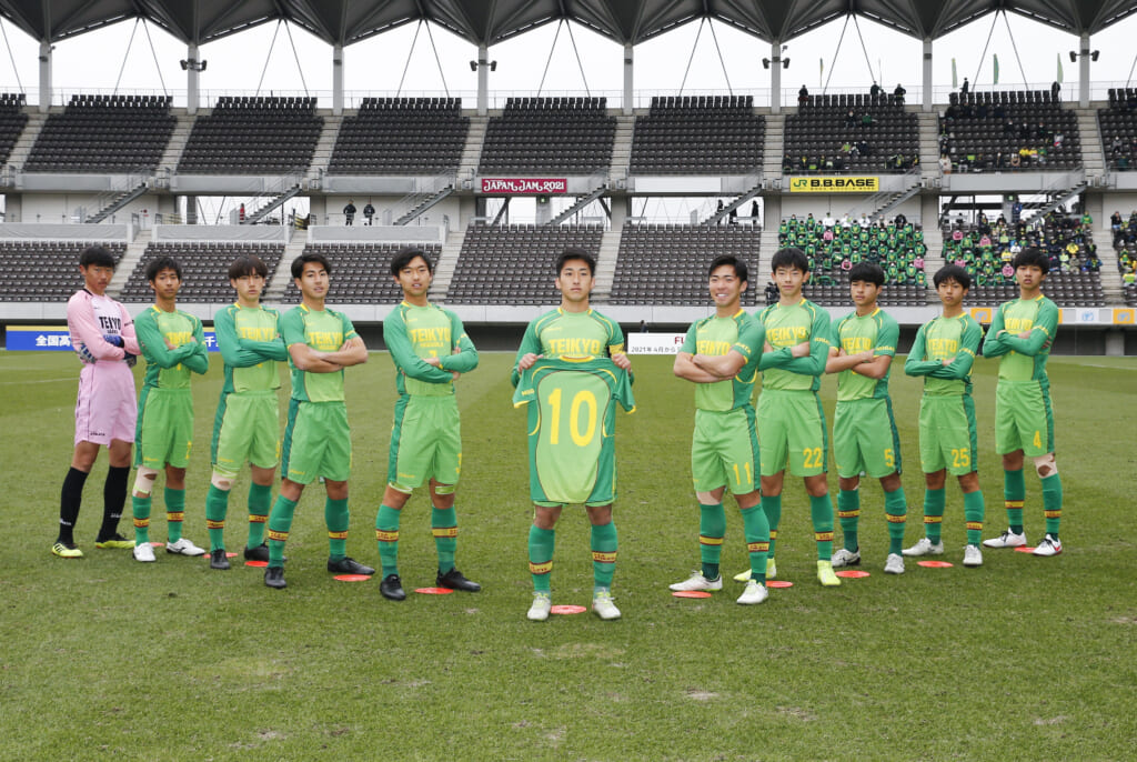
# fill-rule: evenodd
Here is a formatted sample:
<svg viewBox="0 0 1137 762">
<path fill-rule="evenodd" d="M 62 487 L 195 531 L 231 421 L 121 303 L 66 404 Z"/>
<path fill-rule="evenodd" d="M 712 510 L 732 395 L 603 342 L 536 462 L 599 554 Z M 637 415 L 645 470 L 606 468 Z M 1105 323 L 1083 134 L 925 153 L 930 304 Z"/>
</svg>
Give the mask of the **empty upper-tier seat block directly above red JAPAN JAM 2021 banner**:
<svg viewBox="0 0 1137 762">
<path fill-rule="evenodd" d="M 606 98 L 511 98 L 490 118 L 480 174 L 607 173 L 616 119 Z"/>
</svg>

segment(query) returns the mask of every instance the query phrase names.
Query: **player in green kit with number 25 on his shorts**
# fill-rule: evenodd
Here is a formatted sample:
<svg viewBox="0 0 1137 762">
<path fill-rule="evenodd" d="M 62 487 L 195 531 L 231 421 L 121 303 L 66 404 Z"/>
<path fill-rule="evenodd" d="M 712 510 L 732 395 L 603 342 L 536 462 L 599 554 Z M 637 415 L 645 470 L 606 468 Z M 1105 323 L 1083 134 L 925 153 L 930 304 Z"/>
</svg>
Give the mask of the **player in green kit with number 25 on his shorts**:
<svg viewBox="0 0 1137 762">
<path fill-rule="evenodd" d="M 971 399 L 971 365 L 984 330 L 963 312 L 971 275 L 946 265 L 932 278 L 944 312 L 920 326 L 904 363 L 908 375 L 924 376 L 920 398 L 920 466 L 924 472 L 924 536 L 904 549 L 906 556 L 940 555 L 944 542 L 944 486 L 947 473 L 960 480 L 968 522 L 964 566 L 981 566 L 979 541 L 984 529 L 984 494 L 979 490 L 976 404 Z"/>
</svg>

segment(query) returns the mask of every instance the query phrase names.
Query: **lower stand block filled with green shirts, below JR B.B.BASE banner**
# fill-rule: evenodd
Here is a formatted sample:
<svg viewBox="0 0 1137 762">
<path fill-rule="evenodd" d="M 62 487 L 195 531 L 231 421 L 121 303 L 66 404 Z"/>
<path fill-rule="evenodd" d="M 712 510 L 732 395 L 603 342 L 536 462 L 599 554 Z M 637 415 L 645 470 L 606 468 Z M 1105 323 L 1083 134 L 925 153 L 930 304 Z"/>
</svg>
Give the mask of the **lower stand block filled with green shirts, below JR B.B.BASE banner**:
<svg viewBox="0 0 1137 762">
<path fill-rule="evenodd" d="M 897 224 L 899 223 L 899 224 Z M 866 217 L 853 221 L 827 215 L 805 220 L 791 215 L 778 227 L 778 245 L 796 246 L 810 259 L 812 276 L 803 292 L 821 305 L 847 305 L 846 272 L 860 262 L 872 262 L 885 268 L 886 288 L 881 306 L 920 306 L 927 303 L 923 230 L 904 218 L 891 223 Z"/>
</svg>

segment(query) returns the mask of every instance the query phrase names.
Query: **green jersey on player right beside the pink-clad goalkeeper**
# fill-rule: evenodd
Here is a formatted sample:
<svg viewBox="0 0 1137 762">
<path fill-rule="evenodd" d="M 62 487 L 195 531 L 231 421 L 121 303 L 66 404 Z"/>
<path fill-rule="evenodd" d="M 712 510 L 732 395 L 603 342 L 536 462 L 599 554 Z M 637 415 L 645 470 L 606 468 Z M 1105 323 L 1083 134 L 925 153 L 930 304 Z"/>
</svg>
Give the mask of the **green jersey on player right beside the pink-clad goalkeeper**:
<svg viewBox="0 0 1137 762">
<path fill-rule="evenodd" d="M 146 357 L 144 387 L 189 389 L 191 372 L 209 370 L 205 331 L 193 315 L 180 309 L 167 313 L 150 305 L 134 320 L 134 331 Z"/>
</svg>

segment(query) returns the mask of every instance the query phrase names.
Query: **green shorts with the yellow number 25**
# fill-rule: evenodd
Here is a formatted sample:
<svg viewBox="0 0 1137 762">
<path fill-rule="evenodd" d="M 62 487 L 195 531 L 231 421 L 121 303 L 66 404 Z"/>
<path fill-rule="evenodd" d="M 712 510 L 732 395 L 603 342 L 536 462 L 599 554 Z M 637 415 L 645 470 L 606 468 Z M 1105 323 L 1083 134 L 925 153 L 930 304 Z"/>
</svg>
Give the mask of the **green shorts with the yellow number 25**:
<svg viewBox="0 0 1137 762">
<path fill-rule="evenodd" d="M 971 395 L 920 399 L 920 467 L 962 477 L 979 469 L 976 404 Z"/>
</svg>

